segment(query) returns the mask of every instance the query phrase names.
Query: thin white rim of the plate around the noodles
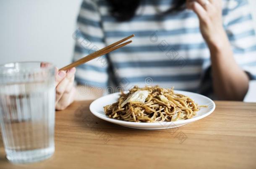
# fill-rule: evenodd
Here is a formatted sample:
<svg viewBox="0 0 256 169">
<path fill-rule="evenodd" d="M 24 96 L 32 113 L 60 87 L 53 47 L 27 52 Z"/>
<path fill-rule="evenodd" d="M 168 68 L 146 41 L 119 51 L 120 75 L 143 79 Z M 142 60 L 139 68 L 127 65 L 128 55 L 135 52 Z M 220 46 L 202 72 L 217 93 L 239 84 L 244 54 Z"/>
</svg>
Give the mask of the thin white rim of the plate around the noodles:
<svg viewBox="0 0 256 169">
<path fill-rule="evenodd" d="M 191 93 L 191 94 L 194 94 L 194 95 L 197 95 L 197 96 L 200 96 L 200 97 L 203 97 L 205 99 L 207 99 L 208 101 L 210 101 L 210 103 L 212 103 L 213 107 L 212 109 L 207 112 L 206 114 L 203 114 L 201 116 L 198 116 L 198 117 L 195 117 L 195 118 L 191 118 L 191 119 L 186 119 L 186 120 L 179 120 L 179 121 L 159 121 L 159 122 L 154 122 L 154 123 L 136 123 L 136 122 L 132 122 L 132 121 L 122 121 L 122 120 L 118 120 L 118 119 L 111 119 L 107 116 L 104 116 L 102 117 L 100 113 L 98 113 L 96 111 L 96 113 L 94 113 L 94 108 L 92 108 L 92 106 L 94 106 L 94 104 L 100 100 L 100 99 L 103 99 L 105 97 L 109 97 L 109 96 L 112 96 L 112 95 L 119 95 L 121 92 L 116 92 L 116 93 L 111 93 L 111 94 L 108 94 L 108 95 L 105 95 L 105 96 L 102 96 L 100 98 L 97 98 L 95 99 L 93 102 L 91 102 L 90 106 L 89 106 L 89 109 L 90 109 L 90 112 L 91 114 L 93 114 L 94 116 L 98 117 L 99 119 L 102 119 L 104 121 L 108 121 L 108 122 L 111 122 L 111 123 L 114 123 L 114 124 L 120 124 L 120 125 L 125 125 L 125 126 L 138 126 L 138 127 L 142 127 L 142 126 L 149 126 L 149 127 L 152 127 L 152 126 L 163 126 L 163 125 L 170 125 L 170 124 L 174 124 L 174 125 L 180 125 L 180 124 L 188 124 L 188 123 L 191 123 L 193 121 L 197 121 L 197 120 L 200 120 L 200 119 L 203 119 L 204 117 L 206 116 L 209 116 L 210 114 L 212 114 L 212 112 L 215 110 L 216 108 L 216 105 L 214 103 L 214 101 L 204 95 L 201 95 L 199 93 L 193 93 L 193 92 L 190 92 L 190 91 L 181 91 L 181 90 L 174 90 L 175 93 L 178 93 L 178 92 L 185 92 L 185 93 Z"/>
</svg>

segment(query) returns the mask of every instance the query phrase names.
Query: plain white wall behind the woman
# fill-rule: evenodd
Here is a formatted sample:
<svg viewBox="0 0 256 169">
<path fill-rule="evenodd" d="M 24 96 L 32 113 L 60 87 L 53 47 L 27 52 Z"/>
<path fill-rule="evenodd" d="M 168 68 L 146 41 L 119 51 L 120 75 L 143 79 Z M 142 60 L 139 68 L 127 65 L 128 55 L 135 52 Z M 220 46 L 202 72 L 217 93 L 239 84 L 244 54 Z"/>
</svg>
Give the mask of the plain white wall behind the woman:
<svg viewBox="0 0 256 169">
<path fill-rule="evenodd" d="M 249 2 L 256 20 L 256 0 Z M 62 67 L 70 63 L 80 4 L 81 0 L 0 0 L 0 64 L 48 61 Z M 256 84 L 252 86 L 248 101 L 256 99 Z"/>
</svg>

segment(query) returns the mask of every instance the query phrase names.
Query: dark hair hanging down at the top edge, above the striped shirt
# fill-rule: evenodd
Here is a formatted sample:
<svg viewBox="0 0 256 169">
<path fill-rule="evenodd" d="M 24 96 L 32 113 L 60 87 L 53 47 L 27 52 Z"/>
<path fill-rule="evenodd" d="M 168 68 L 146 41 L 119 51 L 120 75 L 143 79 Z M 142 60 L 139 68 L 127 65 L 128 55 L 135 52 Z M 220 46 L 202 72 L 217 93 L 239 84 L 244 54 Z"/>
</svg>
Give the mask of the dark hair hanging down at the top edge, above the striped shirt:
<svg viewBox="0 0 256 169">
<path fill-rule="evenodd" d="M 118 21 L 131 20 L 142 0 L 107 0 L 110 5 L 110 13 Z M 178 12 L 185 9 L 186 0 L 173 0 L 172 7 L 162 14 Z"/>
</svg>

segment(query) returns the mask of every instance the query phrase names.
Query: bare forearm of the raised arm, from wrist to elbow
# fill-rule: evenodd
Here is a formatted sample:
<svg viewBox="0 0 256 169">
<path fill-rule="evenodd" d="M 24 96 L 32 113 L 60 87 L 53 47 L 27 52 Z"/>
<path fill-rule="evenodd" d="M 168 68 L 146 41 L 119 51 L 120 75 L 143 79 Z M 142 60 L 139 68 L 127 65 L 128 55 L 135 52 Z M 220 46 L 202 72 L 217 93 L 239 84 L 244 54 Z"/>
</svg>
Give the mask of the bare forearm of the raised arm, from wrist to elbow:
<svg viewBox="0 0 256 169">
<path fill-rule="evenodd" d="M 249 78 L 233 57 L 227 35 L 215 45 L 209 44 L 214 93 L 221 100 L 242 101 L 248 91 Z"/>
</svg>

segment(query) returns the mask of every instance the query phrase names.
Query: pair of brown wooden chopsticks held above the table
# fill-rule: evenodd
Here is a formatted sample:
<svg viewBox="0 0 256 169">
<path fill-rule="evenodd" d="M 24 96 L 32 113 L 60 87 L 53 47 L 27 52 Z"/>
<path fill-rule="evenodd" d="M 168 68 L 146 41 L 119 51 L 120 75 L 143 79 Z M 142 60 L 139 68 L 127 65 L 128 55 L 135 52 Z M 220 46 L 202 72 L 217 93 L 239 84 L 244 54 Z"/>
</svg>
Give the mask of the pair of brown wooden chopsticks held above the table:
<svg viewBox="0 0 256 169">
<path fill-rule="evenodd" d="M 117 49 L 119 49 L 119 48 L 122 48 L 123 46 L 128 45 L 129 43 L 131 43 L 132 41 L 130 40 L 130 41 L 125 42 L 125 43 L 122 43 L 122 42 L 124 42 L 125 40 L 128 40 L 128 39 L 132 38 L 133 36 L 134 36 L 134 35 L 130 35 L 130 36 L 126 37 L 126 38 L 123 38 L 122 40 L 119 40 L 119 41 L 117 41 L 117 42 L 115 42 L 115 43 L 112 43 L 111 45 L 108 45 L 108 46 L 105 47 L 105 48 L 102 48 L 102 49 L 100 49 L 100 50 L 97 50 L 96 52 L 91 53 L 91 54 L 85 56 L 84 58 L 81 58 L 81 59 L 79 59 L 78 61 L 75 61 L 75 62 L 73 62 L 73 63 L 71 63 L 71 64 L 69 64 L 69 65 L 67 65 L 67 66 L 65 66 L 65 67 L 63 67 L 63 68 L 61 68 L 60 71 L 67 71 L 68 69 L 71 69 L 71 68 L 73 68 L 73 67 L 79 66 L 79 65 L 81 65 L 81 64 L 83 64 L 83 63 L 86 63 L 86 62 L 88 62 L 88 61 L 91 61 L 92 59 L 95 59 L 95 58 L 97 58 L 97 57 L 99 57 L 99 56 L 102 56 L 102 55 L 105 55 L 105 54 L 107 54 L 107 53 L 110 53 L 110 52 L 112 52 L 113 50 L 117 50 Z M 120 43 L 122 43 L 122 44 L 120 44 Z"/>
</svg>

